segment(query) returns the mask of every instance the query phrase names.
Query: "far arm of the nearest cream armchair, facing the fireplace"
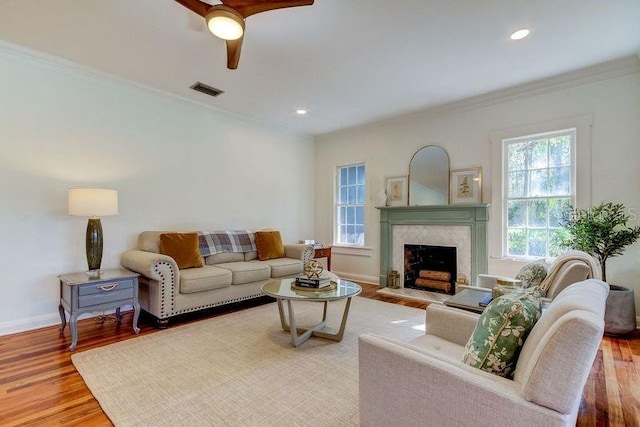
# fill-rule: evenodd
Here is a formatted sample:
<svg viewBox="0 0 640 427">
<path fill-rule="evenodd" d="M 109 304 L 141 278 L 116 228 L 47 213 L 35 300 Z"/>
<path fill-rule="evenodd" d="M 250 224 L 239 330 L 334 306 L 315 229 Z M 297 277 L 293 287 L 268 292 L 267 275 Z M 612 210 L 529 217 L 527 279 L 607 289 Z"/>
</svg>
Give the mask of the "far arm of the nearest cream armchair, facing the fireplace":
<svg viewBox="0 0 640 427">
<path fill-rule="evenodd" d="M 464 346 L 478 323 L 480 315 L 470 311 L 429 304 L 426 310 L 425 332 Z"/>
</svg>

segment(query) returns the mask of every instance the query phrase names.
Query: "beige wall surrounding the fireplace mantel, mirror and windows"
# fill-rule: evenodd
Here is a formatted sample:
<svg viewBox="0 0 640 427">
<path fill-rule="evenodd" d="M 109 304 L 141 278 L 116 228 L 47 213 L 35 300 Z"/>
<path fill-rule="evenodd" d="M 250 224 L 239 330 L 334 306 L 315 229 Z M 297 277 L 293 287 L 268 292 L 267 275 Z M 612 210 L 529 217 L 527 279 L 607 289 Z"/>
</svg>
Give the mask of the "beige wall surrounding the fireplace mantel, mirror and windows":
<svg viewBox="0 0 640 427">
<path fill-rule="evenodd" d="M 619 69 L 586 77 L 580 82 L 550 81 L 547 88 L 535 85 L 534 95 L 505 93 L 502 98 L 487 96 L 484 103 L 459 103 L 449 108 L 428 110 L 325 135 L 316 140 L 316 209 L 333 206 L 335 167 L 364 161 L 367 171 L 368 206 L 366 245 L 372 250 L 358 255 L 336 255 L 334 270 L 345 276 L 376 281 L 379 274 L 379 213 L 373 207 L 375 194 L 385 177 L 406 175 L 409 160 L 420 147 L 437 144 L 451 159 L 451 168 L 482 166 L 484 202 L 491 203 L 490 270 L 514 274 L 521 263 L 501 259 L 499 194 L 492 188 L 492 166 L 500 159 L 492 156 L 491 136 L 513 129 L 544 127 L 588 117 L 591 128 L 589 175 L 579 177 L 578 186 L 590 185 L 592 204 L 622 202 L 640 212 L 640 61 L 622 61 Z M 602 71 L 602 70 L 600 70 Z M 617 77 L 616 77 L 617 75 Z M 566 80 L 566 79 L 565 79 Z M 590 81 L 586 83 L 586 81 Z M 556 85 L 554 88 L 553 85 Z M 497 196 L 492 197 L 492 196 Z M 631 225 L 639 225 L 635 220 Z M 316 216 L 316 239 L 333 239 L 332 216 Z M 640 244 L 609 261 L 609 281 L 629 286 L 640 301 Z M 640 307 L 640 305 L 639 305 Z M 640 310 L 639 310 L 640 312 Z"/>
</svg>

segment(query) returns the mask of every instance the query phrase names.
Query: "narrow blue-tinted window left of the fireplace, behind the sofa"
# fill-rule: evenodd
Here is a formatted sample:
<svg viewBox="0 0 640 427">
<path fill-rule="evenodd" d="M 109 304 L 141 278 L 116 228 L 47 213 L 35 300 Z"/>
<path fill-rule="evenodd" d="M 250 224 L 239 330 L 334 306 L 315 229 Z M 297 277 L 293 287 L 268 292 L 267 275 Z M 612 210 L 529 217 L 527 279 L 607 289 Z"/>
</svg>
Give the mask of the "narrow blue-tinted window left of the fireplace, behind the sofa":
<svg viewBox="0 0 640 427">
<path fill-rule="evenodd" d="M 336 243 L 364 245 L 364 163 L 338 167 Z"/>
</svg>

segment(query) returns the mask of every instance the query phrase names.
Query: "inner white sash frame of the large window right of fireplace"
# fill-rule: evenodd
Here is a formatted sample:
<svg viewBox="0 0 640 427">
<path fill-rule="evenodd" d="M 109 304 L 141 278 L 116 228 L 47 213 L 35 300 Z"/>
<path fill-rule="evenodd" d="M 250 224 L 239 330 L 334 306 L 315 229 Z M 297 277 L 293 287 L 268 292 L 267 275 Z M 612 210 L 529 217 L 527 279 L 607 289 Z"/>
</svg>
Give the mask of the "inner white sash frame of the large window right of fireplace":
<svg viewBox="0 0 640 427">
<path fill-rule="evenodd" d="M 513 197 L 510 198 L 508 196 L 508 188 L 509 188 L 509 180 L 507 179 L 507 177 L 509 176 L 509 157 L 508 157 L 508 150 L 509 150 L 509 146 L 511 144 L 519 144 L 519 143 L 523 143 L 523 142 L 533 142 L 539 139 L 546 139 L 546 138 L 554 138 L 557 136 L 564 136 L 564 135 L 568 135 L 571 137 L 571 144 L 570 144 L 570 188 L 569 188 L 569 195 L 565 196 L 559 196 L 559 195 L 546 195 L 546 196 L 523 196 L 523 197 Z M 548 169 L 548 164 L 547 164 L 547 169 Z M 527 169 L 527 170 L 531 170 L 531 169 Z M 535 259 L 535 258 L 549 258 L 549 242 L 547 242 L 547 251 L 545 256 L 540 257 L 540 256 L 531 256 L 531 255 L 510 255 L 508 253 L 509 250 L 509 242 L 508 242 L 508 230 L 509 230 L 509 226 L 508 226 L 508 218 L 509 218 L 509 201 L 511 200 L 523 200 L 523 201 L 534 201 L 534 200 L 549 200 L 549 199 L 556 199 L 556 198 L 569 198 L 569 204 L 571 206 L 575 206 L 575 201 L 576 201 L 576 129 L 575 128 L 571 128 L 571 129 L 560 129 L 560 130 L 556 130 L 556 131 L 551 131 L 551 132 L 544 132 L 544 133 L 538 133 L 538 134 L 534 134 L 534 135 L 524 135 L 524 136 L 520 136 L 520 137 L 515 137 L 515 138 L 507 138 L 502 140 L 502 193 L 504 194 L 504 202 L 502 203 L 502 217 L 505 218 L 505 222 L 504 222 L 504 226 L 502 227 L 502 244 L 503 244 L 503 248 L 502 248 L 502 252 L 510 257 L 513 257 L 515 259 L 522 259 L 522 260 L 531 260 L 531 259 Z M 525 226 L 525 229 L 528 229 L 527 226 Z M 549 226 L 547 224 L 546 230 L 548 232 L 549 230 Z M 527 239 L 527 246 L 528 246 L 529 240 Z"/>
</svg>

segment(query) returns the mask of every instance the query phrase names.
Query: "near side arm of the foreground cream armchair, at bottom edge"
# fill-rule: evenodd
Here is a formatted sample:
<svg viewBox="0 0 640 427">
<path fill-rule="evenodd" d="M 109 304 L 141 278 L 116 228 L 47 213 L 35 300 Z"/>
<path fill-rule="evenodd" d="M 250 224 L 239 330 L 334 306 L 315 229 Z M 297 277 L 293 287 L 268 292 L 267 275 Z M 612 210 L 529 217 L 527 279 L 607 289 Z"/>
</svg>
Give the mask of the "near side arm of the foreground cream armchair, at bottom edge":
<svg viewBox="0 0 640 427">
<path fill-rule="evenodd" d="M 363 426 L 571 424 L 526 401 L 519 383 L 436 352 L 371 334 L 358 347 Z"/>
</svg>

